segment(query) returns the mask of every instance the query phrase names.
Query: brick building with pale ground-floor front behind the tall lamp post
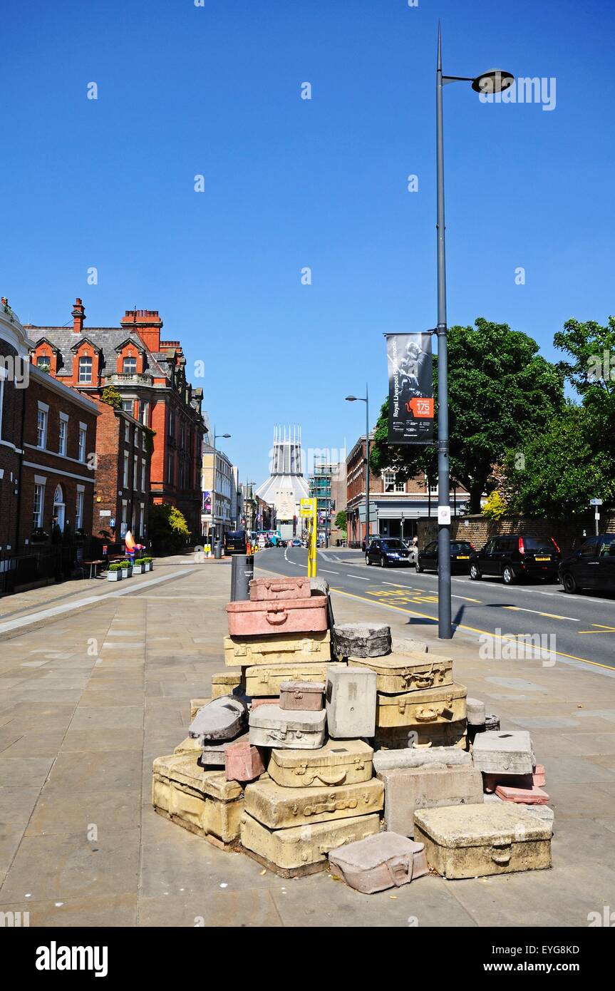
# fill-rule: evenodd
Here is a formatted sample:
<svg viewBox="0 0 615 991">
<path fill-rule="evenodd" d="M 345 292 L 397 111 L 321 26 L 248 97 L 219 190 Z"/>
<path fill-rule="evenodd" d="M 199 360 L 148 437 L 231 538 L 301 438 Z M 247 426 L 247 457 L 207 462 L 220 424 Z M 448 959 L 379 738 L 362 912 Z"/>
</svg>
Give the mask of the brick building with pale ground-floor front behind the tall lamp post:
<svg viewBox="0 0 615 991">
<path fill-rule="evenodd" d="M 369 435 L 370 446 L 373 433 Z M 451 511 L 459 515 L 469 495 L 451 490 Z M 407 482 L 392 471 L 369 472 L 369 533 L 411 539 L 419 519 L 438 516 L 438 486 L 430 487 L 421 473 Z M 365 535 L 365 436 L 347 458 L 347 531 L 349 546 L 358 546 Z"/>
</svg>

